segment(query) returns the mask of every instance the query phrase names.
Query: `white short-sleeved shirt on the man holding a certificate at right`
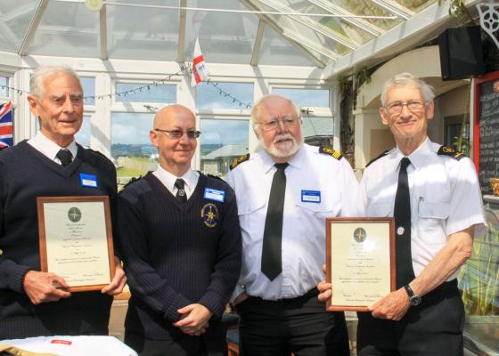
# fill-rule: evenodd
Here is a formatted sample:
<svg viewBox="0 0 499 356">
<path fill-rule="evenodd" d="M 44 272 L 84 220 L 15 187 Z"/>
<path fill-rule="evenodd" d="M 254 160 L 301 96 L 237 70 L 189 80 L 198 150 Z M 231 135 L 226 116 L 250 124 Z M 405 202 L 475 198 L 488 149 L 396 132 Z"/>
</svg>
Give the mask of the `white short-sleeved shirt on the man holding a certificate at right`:
<svg viewBox="0 0 499 356">
<path fill-rule="evenodd" d="M 440 146 L 427 138 L 408 156 L 411 252 L 416 277 L 446 245 L 450 234 L 475 224 L 475 236 L 487 231 L 473 163 L 470 158 L 438 155 Z M 396 148 L 365 169 L 360 183 L 359 216 L 393 216 L 400 160 L 404 157 Z M 455 279 L 457 273 L 447 280 Z"/>
</svg>

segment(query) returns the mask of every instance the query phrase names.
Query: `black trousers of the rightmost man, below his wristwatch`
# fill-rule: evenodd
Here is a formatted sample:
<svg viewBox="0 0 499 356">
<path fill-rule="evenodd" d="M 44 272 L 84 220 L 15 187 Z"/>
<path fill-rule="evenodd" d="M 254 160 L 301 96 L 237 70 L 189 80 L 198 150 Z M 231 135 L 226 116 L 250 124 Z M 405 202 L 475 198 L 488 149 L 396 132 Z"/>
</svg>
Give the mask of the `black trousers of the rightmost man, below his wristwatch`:
<svg viewBox="0 0 499 356">
<path fill-rule="evenodd" d="M 462 356 L 464 307 L 457 281 L 446 282 L 422 296 L 399 321 L 359 312 L 358 356 Z"/>
</svg>

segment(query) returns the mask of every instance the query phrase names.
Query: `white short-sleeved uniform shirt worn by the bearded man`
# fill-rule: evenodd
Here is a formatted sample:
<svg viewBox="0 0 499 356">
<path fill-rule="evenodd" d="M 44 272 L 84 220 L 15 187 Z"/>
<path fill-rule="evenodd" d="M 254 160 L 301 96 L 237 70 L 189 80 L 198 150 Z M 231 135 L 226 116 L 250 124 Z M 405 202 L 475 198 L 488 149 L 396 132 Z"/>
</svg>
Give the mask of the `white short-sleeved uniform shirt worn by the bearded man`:
<svg viewBox="0 0 499 356">
<path fill-rule="evenodd" d="M 268 300 L 297 297 L 314 288 L 324 279 L 325 218 L 353 210 L 358 182 L 345 158 L 332 158 L 305 144 L 288 163 L 282 273 L 273 281 L 262 273 L 261 257 L 274 161 L 260 151 L 226 176 L 235 190 L 242 233 L 241 277 L 233 298 L 241 294 L 241 286 L 249 295 Z M 318 194 L 320 202 L 311 201 L 318 200 Z"/>
</svg>

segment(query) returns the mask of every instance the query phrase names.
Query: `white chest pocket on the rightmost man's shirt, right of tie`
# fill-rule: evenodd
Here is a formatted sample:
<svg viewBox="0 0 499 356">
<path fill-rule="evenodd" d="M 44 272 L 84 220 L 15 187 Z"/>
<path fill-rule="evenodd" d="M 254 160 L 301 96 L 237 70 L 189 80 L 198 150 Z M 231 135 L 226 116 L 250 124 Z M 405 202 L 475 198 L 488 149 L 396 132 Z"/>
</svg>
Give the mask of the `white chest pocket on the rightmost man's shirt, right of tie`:
<svg viewBox="0 0 499 356">
<path fill-rule="evenodd" d="M 418 202 L 418 237 L 429 245 L 446 241 L 446 219 L 450 204 L 447 202 Z"/>
</svg>

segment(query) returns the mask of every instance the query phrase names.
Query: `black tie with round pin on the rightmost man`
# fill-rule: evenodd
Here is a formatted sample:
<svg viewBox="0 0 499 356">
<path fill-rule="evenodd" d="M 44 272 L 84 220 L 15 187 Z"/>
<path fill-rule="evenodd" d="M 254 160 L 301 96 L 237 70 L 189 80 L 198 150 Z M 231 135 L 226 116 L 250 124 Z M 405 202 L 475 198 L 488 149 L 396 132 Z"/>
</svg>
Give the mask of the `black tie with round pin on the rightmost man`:
<svg viewBox="0 0 499 356">
<path fill-rule="evenodd" d="M 407 178 L 407 166 L 410 164 L 411 161 L 406 157 L 400 161 L 393 212 L 396 230 L 397 288 L 405 286 L 414 279 L 413 256 L 411 255 L 411 196 Z"/>
</svg>

